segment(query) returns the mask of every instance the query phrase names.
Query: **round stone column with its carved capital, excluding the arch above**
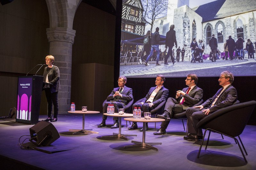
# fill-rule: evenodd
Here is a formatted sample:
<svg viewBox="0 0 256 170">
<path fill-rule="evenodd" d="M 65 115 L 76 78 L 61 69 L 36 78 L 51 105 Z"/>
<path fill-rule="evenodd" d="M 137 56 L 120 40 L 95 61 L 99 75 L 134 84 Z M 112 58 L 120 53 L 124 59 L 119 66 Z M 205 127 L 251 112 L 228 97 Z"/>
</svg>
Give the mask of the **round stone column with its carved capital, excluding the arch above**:
<svg viewBox="0 0 256 170">
<path fill-rule="evenodd" d="M 66 114 L 70 110 L 72 45 L 76 31 L 55 27 L 47 28 L 46 33 L 50 43 L 49 54 L 54 56 L 53 64 L 60 69 L 59 114 Z"/>
</svg>

